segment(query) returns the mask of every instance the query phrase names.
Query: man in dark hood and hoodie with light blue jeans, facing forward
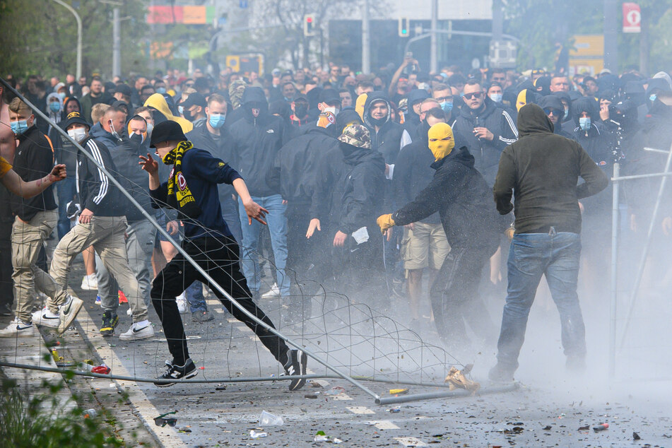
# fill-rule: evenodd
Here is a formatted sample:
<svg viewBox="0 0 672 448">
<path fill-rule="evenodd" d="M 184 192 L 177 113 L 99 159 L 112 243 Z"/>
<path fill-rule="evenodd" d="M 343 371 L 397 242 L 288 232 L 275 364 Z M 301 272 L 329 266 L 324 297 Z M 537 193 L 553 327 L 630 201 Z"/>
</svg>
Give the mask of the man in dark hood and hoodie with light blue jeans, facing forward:
<svg viewBox="0 0 672 448">
<path fill-rule="evenodd" d="M 247 187 L 252 200 L 269 211 L 266 217 L 271 233 L 271 247 L 276 266 L 276 280 L 281 296 L 289 295 L 290 276 L 285 273 L 287 262 L 287 208 L 280 194 L 280 185 L 269 183 L 269 174 L 276 155 L 283 143 L 285 124 L 281 117 L 269 114 L 264 90 L 248 87 L 242 95 L 243 117 L 230 126 L 232 166 L 247 179 Z M 247 285 L 253 295 L 261 286 L 259 271 L 260 224 L 247 220 L 242 202 L 239 200 L 242 225 L 242 267 Z"/>
</svg>

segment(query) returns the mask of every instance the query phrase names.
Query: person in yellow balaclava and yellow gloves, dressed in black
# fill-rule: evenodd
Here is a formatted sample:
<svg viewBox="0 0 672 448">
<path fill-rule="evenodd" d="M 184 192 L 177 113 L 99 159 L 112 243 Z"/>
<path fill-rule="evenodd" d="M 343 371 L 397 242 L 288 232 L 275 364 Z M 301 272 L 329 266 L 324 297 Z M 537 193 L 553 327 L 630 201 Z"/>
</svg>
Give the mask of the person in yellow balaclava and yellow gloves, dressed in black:
<svg viewBox="0 0 672 448">
<path fill-rule="evenodd" d="M 499 244 L 499 231 L 488 183 L 474 167 L 468 148 L 454 146 L 448 124 L 430 127 L 428 147 L 435 160 L 432 181 L 413 201 L 379 216 L 377 223 L 388 232 L 395 225 L 416 223 L 439 213 L 450 253 L 431 288 L 432 310 L 446 346 L 468 354 L 471 347 L 465 322 L 485 344 L 495 342 L 496 327 L 478 295 L 478 285 Z"/>
</svg>

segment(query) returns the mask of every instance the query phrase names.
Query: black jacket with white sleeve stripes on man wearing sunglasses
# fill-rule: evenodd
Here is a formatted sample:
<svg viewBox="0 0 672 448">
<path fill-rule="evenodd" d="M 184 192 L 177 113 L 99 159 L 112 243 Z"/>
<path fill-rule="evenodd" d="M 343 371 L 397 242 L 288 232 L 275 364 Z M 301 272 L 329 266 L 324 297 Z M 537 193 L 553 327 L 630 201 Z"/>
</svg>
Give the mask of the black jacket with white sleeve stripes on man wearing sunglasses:
<svg viewBox="0 0 672 448">
<path fill-rule="evenodd" d="M 473 155 L 474 166 L 481 172 L 489 185 L 495 183 L 497 164 L 507 145 L 518 138 L 513 119 L 495 102 L 485 98 L 481 109 L 472 111 L 467 105 L 460 109 L 459 117 L 451 124 L 456 141 L 460 141 Z M 486 127 L 493 133 L 493 141 L 479 139 L 473 134 L 473 128 Z"/>
</svg>

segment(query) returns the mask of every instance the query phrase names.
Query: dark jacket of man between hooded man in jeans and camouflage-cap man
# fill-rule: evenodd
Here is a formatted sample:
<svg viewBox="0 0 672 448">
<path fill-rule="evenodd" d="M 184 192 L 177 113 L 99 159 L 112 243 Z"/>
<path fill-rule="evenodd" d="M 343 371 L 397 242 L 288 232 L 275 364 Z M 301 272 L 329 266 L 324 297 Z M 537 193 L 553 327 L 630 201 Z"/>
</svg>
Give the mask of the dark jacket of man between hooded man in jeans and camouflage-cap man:
<svg viewBox="0 0 672 448">
<path fill-rule="evenodd" d="M 306 134 L 288 141 L 278 152 L 271 183 L 280 184 L 283 199 L 293 204 L 310 206 L 317 184 L 321 156 L 338 140 L 327 129 L 311 127 Z"/>
</svg>

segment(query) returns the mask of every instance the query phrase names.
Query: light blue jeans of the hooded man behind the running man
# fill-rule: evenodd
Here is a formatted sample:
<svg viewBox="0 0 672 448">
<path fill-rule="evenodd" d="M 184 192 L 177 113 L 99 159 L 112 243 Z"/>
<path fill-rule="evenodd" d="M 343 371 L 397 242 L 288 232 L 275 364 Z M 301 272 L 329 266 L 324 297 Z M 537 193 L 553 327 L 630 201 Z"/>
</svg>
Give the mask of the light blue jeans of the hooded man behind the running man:
<svg viewBox="0 0 672 448">
<path fill-rule="evenodd" d="M 266 208 L 269 214 L 266 215 L 266 223 L 269 223 L 269 232 L 271 233 L 271 247 L 273 248 L 273 257 L 276 260 L 276 278 L 278 279 L 278 288 L 283 296 L 289 295 L 290 278 L 285 274 L 285 264 L 287 263 L 287 216 L 283 204 L 283 199 L 279 194 L 273 196 L 257 197 L 252 196 L 252 200 L 260 206 Z M 261 272 L 259 271 L 259 233 L 261 232 L 261 223 L 252 220 L 252 225 L 247 224 L 247 213 L 238 199 L 238 213 L 240 213 L 240 225 L 242 227 L 242 270 L 247 279 L 247 286 L 252 293 L 259 291 Z"/>
</svg>

